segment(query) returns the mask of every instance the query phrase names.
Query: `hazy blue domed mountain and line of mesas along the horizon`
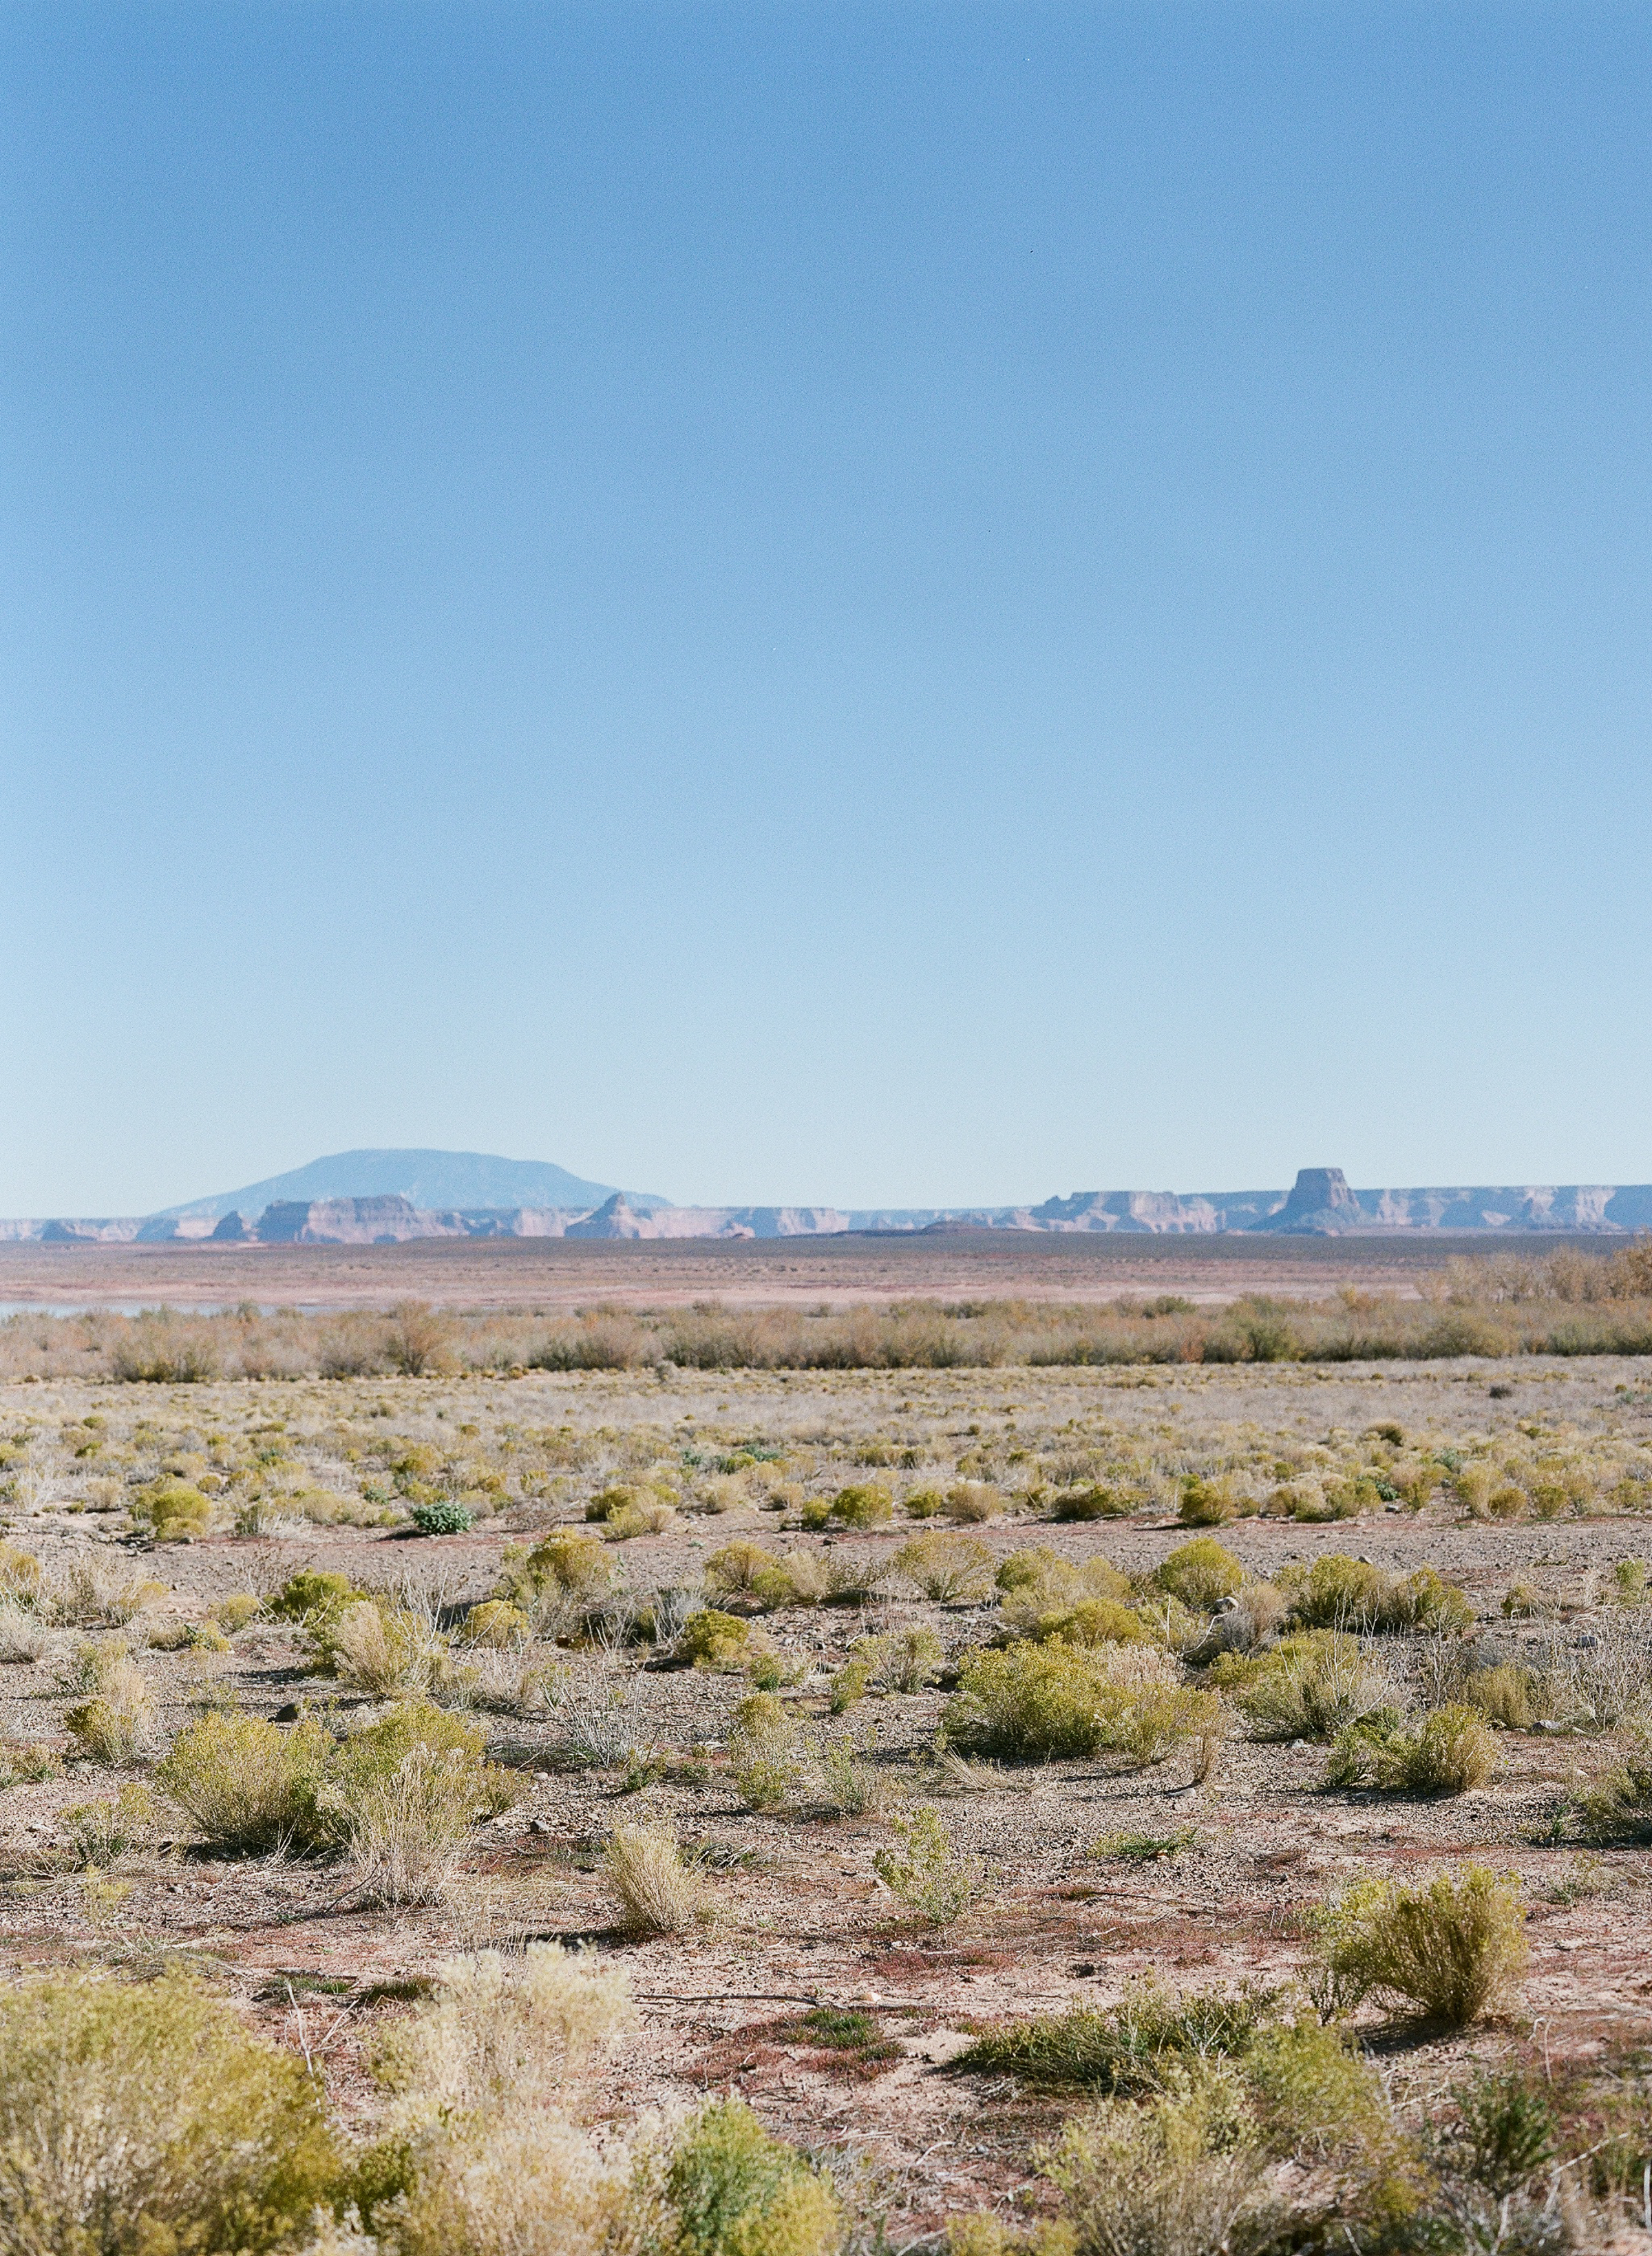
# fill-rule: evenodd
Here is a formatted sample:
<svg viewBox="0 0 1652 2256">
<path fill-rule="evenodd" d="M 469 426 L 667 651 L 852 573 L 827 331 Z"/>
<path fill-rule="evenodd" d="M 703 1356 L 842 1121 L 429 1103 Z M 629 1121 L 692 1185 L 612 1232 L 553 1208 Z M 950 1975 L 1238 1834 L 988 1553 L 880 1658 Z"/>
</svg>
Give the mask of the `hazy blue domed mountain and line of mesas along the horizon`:
<svg viewBox="0 0 1652 2256">
<path fill-rule="evenodd" d="M 1652 1184 L 1478 1184 L 1359 1191 L 1304 1166 L 1289 1191 L 1070 1191 L 1038 1207 L 675 1207 L 546 1160 L 476 1151 L 345 1151 L 244 1191 L 151 1216 L 0 1220 L 41 1245 L 402 1245 L 413 1239 L 817 1239 L 1027 1230 L 1045 1234 L 1618 1236 L 1652 1230 Z"/>
</svg>

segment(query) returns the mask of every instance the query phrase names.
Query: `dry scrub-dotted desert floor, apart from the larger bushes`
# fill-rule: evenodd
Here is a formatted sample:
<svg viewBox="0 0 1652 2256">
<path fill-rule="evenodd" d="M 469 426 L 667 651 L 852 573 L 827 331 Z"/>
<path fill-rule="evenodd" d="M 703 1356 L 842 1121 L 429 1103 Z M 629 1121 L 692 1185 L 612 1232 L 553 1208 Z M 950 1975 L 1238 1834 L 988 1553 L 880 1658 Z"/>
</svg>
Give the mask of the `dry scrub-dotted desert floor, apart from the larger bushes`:
<svg viewBox="0 0 1652 2256">
<path fill-rule="evenodd" d="M 864 2233 L 903 2245 L 970 2211 L 1013 2220 L 1045 2202 L 1031 2154 L 1079 2094 L 959 2073 L 973 2035 L 1113 2006 L 1142 1974 L 1295 1983 L 1313 1911 L 1338 1888 L 1471 1863 L 1512 1875 L 1530 1960 L 1458 2035 L 1372 2003 L 1354 2015 L 1399 2121 L 1420 2125 L 1469 2062 L 1544 2076 L 1580 2094 L 1582 2116 L 1605 2087 L 1638 2091 L 1645 1852 L 1589 1845 L 1566 1814 L 1634 1744 L 1652 1692 L 1638 1360 L 47 1381 L 5 1390 L 0 1442 L 7 1559 L 27 1552 L 47 1586 L 81 1593 L 56 1622 L 41 1606 L 43 1633 L 23 1640 L 34 1651 L 0 1667 L 7 1972 L 144 1976 L 183 1954 L 302 2048 L 359 2127 L 377 2105 L 375 2030 L 447 1954 L 562 1938 L 612 1954 L 636 1997 L 600 2114 L 740 2094 L 772 2130 L 831 2152 Z M 1417 1466 L 1442 1471 L 1417 1480 Z M 1214 1525 L 1178 1518 L 1189 1480 L 1225 1498 Z M 167 1484 L 208 1498 L 190 1541 L 153 1541 L 153 1516 L 142 1532 L 144 1493 Z M 1086 1484 L 1110 1516 L 1061 1518 Z M 598 1507 L 609 1521 L 587 1521 L 614 1491 Z M 873 1502 L 828 1516 L 844 1491 Z M 932 1516 L 910 1516 L 914 1496 Z M 1352 1516 L 1313 1516 L 1327 1496 L 1352 1498 Z M 431 1498 L 460 1502 L 469 1530 L 413 1532 L 411 1505 Z M 1307 1516 L 1286 1516 L 1293 1500 Z M 580 1568 L 573 1595 L 546 1586 L 553 1604 L 521 1559 L 560 1527 L 600 1543 L 600 1570 Z M 925 1595 L 914 1536 L 964 1545 L 955 1593 Z M 995 1579 L 1011 1554 L 1031 1552 L 1029 1577 L 1065 1600 L 1070 1570 L 1108 1561 L 1146 1618 L 1160 1606 L 1167 1681 L 1198 1687 L 1214 1600 L 1171 1609 L 1153 1575 L 1212 1539 L 1246 1586 L 1286 1597 L 1327 1554 L 1395 1577 L 1438 1568 L 1460 1588 L 1471 1620 L 1449 1633 L 1352 1622 L 1399 1712 L 1438 1703 L 1447 1676 L 1462 1685 L 1469 1656 L 1568 1683 L 1571 1706 L 1555 1694 L 1528 1728 L 1499 1728 L 1492 1775 L 1438 1796 L 1327 1784 L 1325 1739 L 1257 1728 L 1232 1690 L 1158 1760 L 948 1755 L 970 1656 L 1047 1636 L 1009 1604 L 1013 1575 Z M 790 1588 L 763 1588 L 752 1545 L 806 1561 Z M 352 1683 L 348 1665 L 316 1674 L 314 1622 L 273 1611 L 314 1570 L 440 1631 L 440 1654 L 427 1645 L 402 1685 L 370 1669 Z M 521 1602 L 519 1627 L 503 1645 L 467 1642 L 467 1609 L 501 1593 Z M 666 1629 L 706 1600 L 740 1627 L 702 1654 L 711 1665 L 688 1665 Z M 129 1647 L 151 1701 L 138 1760 L 102 1769 L 65 1728 L 95 1687 L 86 1647 L 99 1640 Z M 858 1654 L 864 1697 L 844 1678 Z M 1589 1710 L 1589 1669 L 1607 1658 L 1623 1699 Z M 731 1757 L 754 1683 L 783 1710 L 783 1775 L 761 1794 Z M 343 1733 L 406 1690 L 481 1733 L 510 1780 L 431 1902 L 363 1902 L 348 1861 L 214 1848 L 165 1794 L 113 1859 L 74 1850 L 65 1812 L 153 1784 L 156 1755 L 208 1712 L 314 1710 Z M 925 1924 L 876 1868 L 919 1809 L 939 1814 L 973 1879 L 946 1924 Z M 630 1929 L 605 1875 L 605 1841 L 639 1823 L 673 1827 L 704 1882 L 706 1915 L 682 1933 Z M 819 2008 L 862 2017 L 853 2044 L 806 2021 Z"/>
</svg>

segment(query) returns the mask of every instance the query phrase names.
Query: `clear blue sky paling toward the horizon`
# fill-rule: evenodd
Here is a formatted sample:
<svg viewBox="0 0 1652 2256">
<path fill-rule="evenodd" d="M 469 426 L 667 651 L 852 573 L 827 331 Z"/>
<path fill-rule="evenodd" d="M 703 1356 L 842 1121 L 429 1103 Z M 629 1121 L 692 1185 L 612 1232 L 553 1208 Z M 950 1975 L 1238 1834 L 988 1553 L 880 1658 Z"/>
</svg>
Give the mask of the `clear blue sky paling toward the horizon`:
<svg viewBox="0 0 1652 2256">
<path fill-rule="evenodd" d="M 1652 11 L 0 5 L 0 1214 L 1652 1180 Z"/>
</svg>

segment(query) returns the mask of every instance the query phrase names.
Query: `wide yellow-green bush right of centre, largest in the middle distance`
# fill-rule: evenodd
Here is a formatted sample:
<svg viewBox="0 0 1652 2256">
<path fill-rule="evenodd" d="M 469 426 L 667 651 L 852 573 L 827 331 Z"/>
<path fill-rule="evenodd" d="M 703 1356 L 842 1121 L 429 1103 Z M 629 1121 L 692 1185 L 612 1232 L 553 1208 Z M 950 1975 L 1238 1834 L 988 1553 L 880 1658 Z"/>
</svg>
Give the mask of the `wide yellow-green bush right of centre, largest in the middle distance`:
<svg viewBox="0 0 1652 2256">
<path fill-rule="evenodd" d="M 1167 1667 L 1140 1647 L 1011 1645 L 964 1667 L 941 1724 L 966 1753 L 1025 1762 L 1117 1751 L 1158 1762 L 1221 1719 L 1216 1694 L 1167 1681 Z"/>
</svg>

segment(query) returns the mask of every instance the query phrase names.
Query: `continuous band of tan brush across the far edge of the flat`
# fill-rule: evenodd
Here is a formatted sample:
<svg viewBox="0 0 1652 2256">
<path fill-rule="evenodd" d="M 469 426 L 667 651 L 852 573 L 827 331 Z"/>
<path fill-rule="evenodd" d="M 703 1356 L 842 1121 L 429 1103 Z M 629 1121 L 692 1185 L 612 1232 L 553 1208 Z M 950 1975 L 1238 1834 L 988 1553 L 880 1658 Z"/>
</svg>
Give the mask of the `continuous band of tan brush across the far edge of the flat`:
<svg viewBox="0 0 1652 2256">
<path fill-rule="evenodd" d="M 1614 1254 L 1453 1261 L 1422 1299 L 1176 1295 L 1074 1306 L 912 1299 L 887 1308 L 260 1311 L 14 1315 L 0 1378 L 372 1378 L 442 1372 L 988 1369 L 1108 1363 L 1368 1363 L 1435 1356 L 1652 1356 L 1652 1241 Z"/>
</svg>

